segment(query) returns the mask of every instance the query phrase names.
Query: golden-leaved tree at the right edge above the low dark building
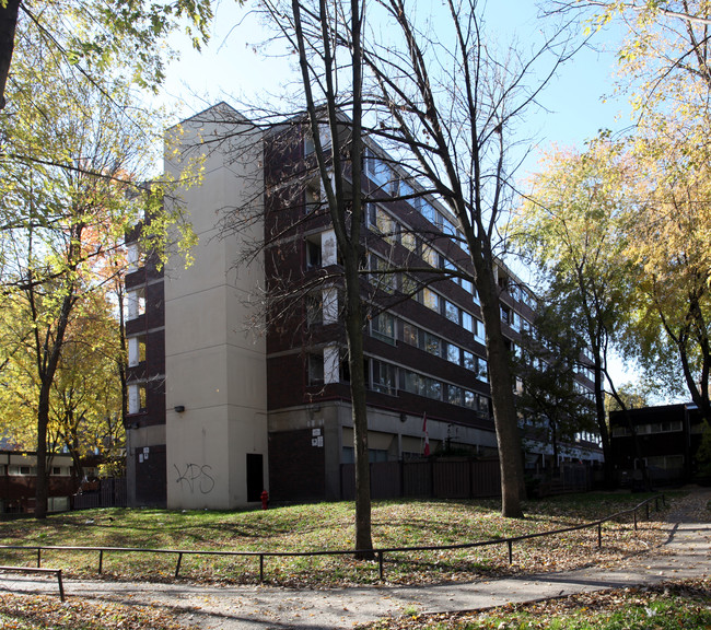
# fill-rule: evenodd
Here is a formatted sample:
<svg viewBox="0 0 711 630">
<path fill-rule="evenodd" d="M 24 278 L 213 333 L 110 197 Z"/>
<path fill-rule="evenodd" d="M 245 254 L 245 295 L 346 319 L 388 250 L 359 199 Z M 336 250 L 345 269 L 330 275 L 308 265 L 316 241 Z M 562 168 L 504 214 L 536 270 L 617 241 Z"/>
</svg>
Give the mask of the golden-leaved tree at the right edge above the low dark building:
<svg viewBox="0 0 711 630">
<path fill-rule="evenodd" d="M 628 187 L 634 211 L 626 254 L 640 270 L 626 349 L 662 376 L 667 392 L 686 388 L 708 420 L 711 153 L 702 128 L 708 122 L 696 118 L 650 116 L 626 142 L 637 171 Z"/>
</svg>

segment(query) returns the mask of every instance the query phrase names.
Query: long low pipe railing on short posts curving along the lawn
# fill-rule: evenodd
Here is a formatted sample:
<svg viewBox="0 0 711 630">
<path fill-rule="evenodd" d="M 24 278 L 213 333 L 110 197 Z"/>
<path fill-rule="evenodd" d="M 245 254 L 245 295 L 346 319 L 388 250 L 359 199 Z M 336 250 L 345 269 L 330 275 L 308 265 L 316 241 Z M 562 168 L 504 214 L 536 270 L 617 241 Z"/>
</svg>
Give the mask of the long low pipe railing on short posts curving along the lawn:
<svg viewBox="0 0 711 630">
<path fill-rule="evenodd" d="M 591 523 L 584 523 L 582 525 L 573 525 L 571 527 L 563 527 L 561 529 L 550 529 L 548 532 L 538 532 L 536 534 L 525 534 L 523 536 L 512 536 L 509 538 L 492 538 L 490 540 L 480 540 L 478 542 L 461 542 L 457 545 L 426 545 L 419 547 L 384 547 L 376 548 L 373 550 L 360 550 L 360 549 L 339 549 L 339 550 L 323 550 L 323 551 L 211 551 L 211 550 L 191 550 L 191 549 L 145 549 L 142 547 L 65 547 L 65 546 L 24 546 L 24 545 L 0 545 L 0 549 L 28 549 L 34 550 L 37 555 L 37 568 L 42 567 L 42 552 L 43 551 L 83 551 L 98 552 L 98 574 L 102 573 L 104 568 L 104 553 L 159 553 L 159 555 L 175 555 L 177 556 L 177 561 L 175 564 L 175 578 L 179 576 L 180 564 L 183 562 L 184 556 L 232 556 L 232 557 L 255 557 L 259 559 L 259 583 L 265 581 L 265 558 L 293 558 L 293 557 L 306 557 L 306 556 L 364 556 L 370 555 L 377 558 L 378 563 L 378 576 L 383 581 L 385 576 L 384 570 L 384 559 L 385 553 L 401 553 L 408 551 L 446 551 L 453 549 L 473 549 L 476 547 L 490 547 L 492 545 L 503 545 L 508 546 L 509 550 L 509 563 L 513 563 L 513 544 L 521 542 L 522 540 L 529 540 L 532 538 L 541 538 L 544 536 L 556 536 L 559 534 L 566 534 L 568 532 L 575 532 L 579 529 L 586 529 L 590 527 L 597 527 L 597 547 L 603 546 L 603 524 L 613 521 L 625 514 L 632 513 L 634 522 L 634 530 L 638 528 L 638 510 L 645 508 L 646 520 L 650 518 L 650 503 L 654 501 L 655 510 L 660 510 L 660 500 L 664 505 L 666 505 L 666 499 L 664 494 L 656 494 L 651 497 L 645 501 L 630 508 L 628 510 L 621 510 L 615 514 L 610 514 L 605 518 L 599 521 L 593 521 Z"/>
</svg>

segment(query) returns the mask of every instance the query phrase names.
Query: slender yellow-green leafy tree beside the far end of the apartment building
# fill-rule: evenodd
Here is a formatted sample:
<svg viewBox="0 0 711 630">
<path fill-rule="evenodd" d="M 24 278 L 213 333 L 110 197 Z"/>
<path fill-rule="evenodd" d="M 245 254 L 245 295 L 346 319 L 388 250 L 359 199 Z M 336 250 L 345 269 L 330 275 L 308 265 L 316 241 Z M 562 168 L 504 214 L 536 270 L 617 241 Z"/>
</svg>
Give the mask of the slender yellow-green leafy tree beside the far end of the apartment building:
<svg viewBox="0 0 711 630">
<path fill-rule="evenodd" d="M 595 415 L 608 479 L 610 439 L 605 388 L 615 392 L 609 352 L 630 305 L 631 273 L 622 228 L 625 161 L 602 138 L 585 154 L 558 152 L 543 163 L 516 217 L 516 242 L 544 275 L 562 317 L 593 360 Z"/>
</svg>

